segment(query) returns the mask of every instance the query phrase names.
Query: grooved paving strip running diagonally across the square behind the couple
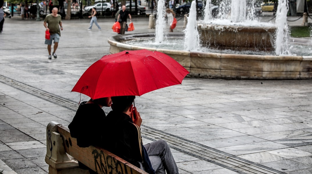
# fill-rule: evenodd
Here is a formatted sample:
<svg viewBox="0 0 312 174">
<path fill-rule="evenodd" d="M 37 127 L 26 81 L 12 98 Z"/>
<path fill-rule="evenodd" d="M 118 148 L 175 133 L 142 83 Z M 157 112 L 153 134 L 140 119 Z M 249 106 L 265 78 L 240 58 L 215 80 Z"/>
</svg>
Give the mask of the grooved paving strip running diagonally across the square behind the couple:
<svg viewBox="0 0 312 174">
<path fill-rule="evenodd" d="M 36 87 L 32 87 L 22 82 L 18 82 L 3 75 L 0 75 L 0 82 L 9 85 L 11 87 L 14 87 L 18 90 L 21 90 L 23 92 L 26 92 L 30 95 L 54 103 L 58 106 L 67 108 L 71 111 L 77 111 L 78 109 L 77 103 L 75 101 L 51 94 L 49 92 L 43 91 Z M 261 164 L 257 164 L 236 157 L 235 155 L 231 155 L 219 151 L 217 149 L 187 139 L 183 139 L 176 135 L 165 133 L 161 130 L 154 129 L 146 125 L 142 125 L 141 129 L 144 130 L 141 133 L 142 136 L 146 139 L 166 140 L 169 146 L 173 149 L 197 157 L 199 159 L 205 160 L 207 162 L 211 162 L 213 164 L 227 168 L 240 174 L 275 174 L 275 173 L 286 174 L 284 172 L 280 172 L 278 170 L 262 166 Z"/>
</svg>

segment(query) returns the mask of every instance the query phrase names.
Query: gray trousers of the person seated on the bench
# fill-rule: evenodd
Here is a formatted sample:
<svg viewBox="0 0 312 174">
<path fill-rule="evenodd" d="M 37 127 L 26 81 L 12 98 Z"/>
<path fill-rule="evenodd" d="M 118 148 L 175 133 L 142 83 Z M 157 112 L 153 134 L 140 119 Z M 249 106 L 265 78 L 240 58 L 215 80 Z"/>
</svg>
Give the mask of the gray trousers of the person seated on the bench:
<svg viewBox="0 0 312 174">
<path fill-rule="evenodd" d="M 173 159 L 172 153 L 166 141 L 157 140 L 152 143 L 144 145 L 147 153 L 149 154 L 149 160 L 156 174 L 178 174 L 178 166 Z M 140 168 L 144 170 L 140 164 Z"/>
</svg>

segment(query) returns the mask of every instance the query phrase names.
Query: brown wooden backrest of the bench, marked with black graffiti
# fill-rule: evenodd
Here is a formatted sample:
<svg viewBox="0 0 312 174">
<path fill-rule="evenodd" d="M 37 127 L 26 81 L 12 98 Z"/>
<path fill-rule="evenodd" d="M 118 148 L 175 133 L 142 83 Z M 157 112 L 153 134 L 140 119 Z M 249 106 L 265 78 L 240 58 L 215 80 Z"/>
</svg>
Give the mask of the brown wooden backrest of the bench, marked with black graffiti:
<svg viewBox="0 0 312 174">
<path fill-rule="evenodd" d="M 51 136 L 49 138 L 49 134 L 59 134 L 58 136 L 61 138 L 59 142 L 59 151 L 62 151 L 64 148 L 64 152 L 75 158 L 76 160 L 82 162 L 87 167 L 91 168 L 95 172 L 99 174 L 148 174 L 138 167 L 130 164 L 129 162 L 117 157 L 113 153 L 109 151 L 90 146 L 87 148 L 80 148 L 77 145 L 76 138 L 72 138 L 69 132 L 69 129 L 64 127 L 63 125 L 57 124 L 56 122 L 51 122 L 54 124 L 53 130 L 48 129 L 47 127 L 47 155 L 46 158 L 49 157 L 48 151 L 51 151 L 51 156 L 53 155 L 50 144 L 53 148 L 53 142 Z M 50 125 L 51 127 L 51 125 Z M 55 146 L 55 143 L 54 143 Z M 61 149 L 61 150 L 60 150 Z M 51 158 L 51 156 L 49 158 Z M 63 158 L 62 158 L 63 159 Z M 46 159 L 47 161 L 47 159 Z M 64 160 L 63 160 L 64 161 Z M 65 160 L 66 161 L 66 160 Z M 48 163 L 48 162 L 47 162 Z"/>
</svg>

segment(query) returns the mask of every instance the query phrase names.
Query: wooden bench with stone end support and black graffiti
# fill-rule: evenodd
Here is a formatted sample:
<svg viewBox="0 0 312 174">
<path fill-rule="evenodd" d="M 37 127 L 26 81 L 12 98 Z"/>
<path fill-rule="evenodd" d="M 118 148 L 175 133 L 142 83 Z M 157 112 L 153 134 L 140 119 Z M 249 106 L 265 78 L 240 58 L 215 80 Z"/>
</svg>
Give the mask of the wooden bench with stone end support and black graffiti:
<svg viewBox="0 0 312 174">
<path fill-rule="evenodd" d="M 49 174 L 89 174 L 78 167 L 77 160 L 99 174 L 148 174 L 103 148 L 78 147 L 69 129 L 50 122 L 46 128 L 45 159 Z"/>
</svg>

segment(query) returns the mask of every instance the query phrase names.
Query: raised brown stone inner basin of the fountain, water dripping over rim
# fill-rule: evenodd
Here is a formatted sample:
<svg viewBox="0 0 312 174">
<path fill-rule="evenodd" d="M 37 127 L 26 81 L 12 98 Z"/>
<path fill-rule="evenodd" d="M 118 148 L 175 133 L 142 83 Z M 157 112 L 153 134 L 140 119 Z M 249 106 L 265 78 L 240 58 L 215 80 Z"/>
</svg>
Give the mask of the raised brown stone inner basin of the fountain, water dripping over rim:
<svg viewBox="0 0 312 174">
<path fill-rule="evenodd" d="M 231 50 L 273 51 L 276 27 L 197 24 L 206 47 Z"/>
</svg>

